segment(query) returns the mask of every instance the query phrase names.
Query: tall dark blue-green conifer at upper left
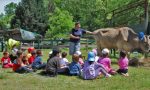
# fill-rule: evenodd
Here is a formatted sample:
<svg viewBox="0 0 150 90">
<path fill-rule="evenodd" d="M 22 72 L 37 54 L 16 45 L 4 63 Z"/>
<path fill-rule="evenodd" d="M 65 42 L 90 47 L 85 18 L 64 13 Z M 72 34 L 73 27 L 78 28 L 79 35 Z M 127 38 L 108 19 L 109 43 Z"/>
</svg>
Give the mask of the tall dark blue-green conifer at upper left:
<svg viewBox="0 0 150 90">
<path fill-rule="evenodd" d="M 44 35 L 47 23 L 48 12 L 43 0 L 22 0 L 16 8 L 11 28 L 20 27 Z"/>
</svg>

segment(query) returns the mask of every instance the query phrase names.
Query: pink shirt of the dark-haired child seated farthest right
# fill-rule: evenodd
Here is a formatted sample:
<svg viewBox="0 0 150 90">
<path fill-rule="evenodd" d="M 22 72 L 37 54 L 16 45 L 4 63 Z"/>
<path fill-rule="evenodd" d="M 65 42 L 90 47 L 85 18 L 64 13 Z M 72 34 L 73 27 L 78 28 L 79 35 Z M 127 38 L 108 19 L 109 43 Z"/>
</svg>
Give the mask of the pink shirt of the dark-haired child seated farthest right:
<svg viewBox="0 0 150 90">
<path fill-rule="evenodd" d="M 119 69 L 128 69 L 128 58 L 120 58 L 118 61 Z"/>
</svg>

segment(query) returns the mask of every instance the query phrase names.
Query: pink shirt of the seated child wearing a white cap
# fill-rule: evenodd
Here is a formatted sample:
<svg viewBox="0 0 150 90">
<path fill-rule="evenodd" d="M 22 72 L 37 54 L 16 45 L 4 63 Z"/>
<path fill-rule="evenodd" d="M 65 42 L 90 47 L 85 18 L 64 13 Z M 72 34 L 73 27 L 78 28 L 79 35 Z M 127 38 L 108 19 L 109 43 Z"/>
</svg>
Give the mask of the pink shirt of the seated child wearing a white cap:
<svg viewBox="0 0 150 90">
<path fill-rule="evenodd" d="M 102 64 L 105 67 L 105 69 L 107 70 L 107 72 L 109 72 L 111 70 L 111 60 L 110 60 L 110 58 L 108 58 L 108 57 L 99 58 L 98 63 Z"/>
</svg>

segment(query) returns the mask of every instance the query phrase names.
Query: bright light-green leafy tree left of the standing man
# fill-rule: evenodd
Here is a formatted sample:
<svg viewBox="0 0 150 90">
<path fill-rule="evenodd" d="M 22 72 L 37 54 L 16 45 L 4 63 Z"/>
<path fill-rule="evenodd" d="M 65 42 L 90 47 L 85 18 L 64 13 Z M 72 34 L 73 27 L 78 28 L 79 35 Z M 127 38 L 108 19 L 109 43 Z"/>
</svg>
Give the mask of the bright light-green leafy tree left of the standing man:
<svg viewBox="0 0 150 90">
<path fill-rule="evenodd" d="M 46 38 L 67 38 L 68 33 L 73 27 L 72 16 L 68 11 L 56 8 L 49 14 L 49 29 L 46 32 Z"/>
</svg>

